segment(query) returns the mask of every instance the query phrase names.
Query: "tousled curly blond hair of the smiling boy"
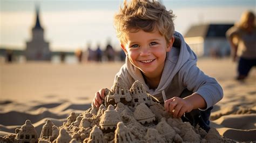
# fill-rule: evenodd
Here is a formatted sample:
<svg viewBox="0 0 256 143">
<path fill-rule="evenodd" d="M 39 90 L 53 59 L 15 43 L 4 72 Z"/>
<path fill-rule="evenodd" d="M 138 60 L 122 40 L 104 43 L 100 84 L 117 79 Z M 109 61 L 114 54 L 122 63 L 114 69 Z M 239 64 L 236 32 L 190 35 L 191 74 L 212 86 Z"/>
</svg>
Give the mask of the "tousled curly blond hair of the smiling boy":
<svg viewBox="0 0 256 143">
<path fill-rule="evenodd" d="M 120 6 L 119 12 L 114 16 L 117 38 L 121 43 L 126 43 L 126 33 L 139 30 L 152 32 L 157 28 L 169 44 L 174 33 L 174 17 L 172 10 L 166 10 L 164 5 L 155 0 L 131 0 L 130 3 L 124 1 L 123 8 Z"/>
</svg>

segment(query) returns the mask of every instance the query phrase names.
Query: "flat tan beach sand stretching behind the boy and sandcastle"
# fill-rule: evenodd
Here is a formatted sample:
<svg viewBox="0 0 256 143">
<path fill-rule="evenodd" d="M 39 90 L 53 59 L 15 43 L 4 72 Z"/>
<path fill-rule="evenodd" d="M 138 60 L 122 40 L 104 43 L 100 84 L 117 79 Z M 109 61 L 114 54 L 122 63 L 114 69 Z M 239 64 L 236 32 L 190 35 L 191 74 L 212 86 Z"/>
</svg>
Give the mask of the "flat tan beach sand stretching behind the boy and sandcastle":
<svg viewBox="0 0 256 143">
<path fill-rule="evenodd" d="M 71 112 L 83 113 L 100 88 L 110 88 L 122 63 L 0 65 L 0 134 L 15 133 L 30 119 L 37 133 L 47 119 L 61 126 Z M 217 78 L 224 99 L 211 114 L 211 126 L 235 141 L 255 141 L 256 69 L 244 82 L 234 80 L 230 59 L 199 59 L 198 66 Z"/>
</svg>

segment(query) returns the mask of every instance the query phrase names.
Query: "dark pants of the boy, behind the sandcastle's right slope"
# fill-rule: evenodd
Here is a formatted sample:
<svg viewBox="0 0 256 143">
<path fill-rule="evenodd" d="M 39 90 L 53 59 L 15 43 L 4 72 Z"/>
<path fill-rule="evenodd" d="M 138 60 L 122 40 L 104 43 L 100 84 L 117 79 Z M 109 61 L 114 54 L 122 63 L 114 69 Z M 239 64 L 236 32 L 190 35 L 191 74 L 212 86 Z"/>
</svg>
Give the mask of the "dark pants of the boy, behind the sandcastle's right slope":
<svg viewBox="0 0 256 143">
<path fill-rule="evenodd" d="M 193 92 L 185 89 L 181 95 L 180 98 L 184 98 L 187 96 L 190 96 Z M 190 124 L 194 127 L 197 126 L 197 124 L 203 128 L 206 132 L 210 130 L 210 114 L 213 107 L 208 108 L 206 111 L 201 111 L 199 109 L 192 110 L 189 113 L 185 113 L 181 119 L 185 122 L 190 122 Z"/>
</svg>

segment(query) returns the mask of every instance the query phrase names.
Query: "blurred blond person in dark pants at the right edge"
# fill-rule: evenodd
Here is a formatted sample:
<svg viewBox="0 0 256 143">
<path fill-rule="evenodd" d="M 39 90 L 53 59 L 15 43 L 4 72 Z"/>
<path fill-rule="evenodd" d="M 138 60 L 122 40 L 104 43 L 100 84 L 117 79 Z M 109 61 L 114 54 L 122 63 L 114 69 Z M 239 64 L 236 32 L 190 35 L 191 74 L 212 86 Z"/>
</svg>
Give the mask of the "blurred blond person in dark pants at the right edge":
<svg viewBox="0 0 256 143">
<path fill-rule="evenodd" d="M 256 66 L 256 23 L 251 11 L 242 13 L 240 22 L 226 32 L 232 47 L 232 59 L 239 57 L 237 80 L 243 80 L 253 66 Z"/>
</svg>

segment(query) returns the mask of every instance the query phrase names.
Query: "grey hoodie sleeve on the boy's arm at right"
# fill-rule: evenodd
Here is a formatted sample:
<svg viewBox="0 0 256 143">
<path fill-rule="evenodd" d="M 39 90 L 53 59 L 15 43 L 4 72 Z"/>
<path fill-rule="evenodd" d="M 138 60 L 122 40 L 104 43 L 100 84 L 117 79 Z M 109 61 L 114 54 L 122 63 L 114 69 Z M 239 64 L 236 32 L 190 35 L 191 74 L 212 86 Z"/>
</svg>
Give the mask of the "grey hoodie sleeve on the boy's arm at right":
<svg viewBox="0 0 256 143">
<path fill-rule="evenodd" d="M 223 89 L 217 80 L 204 74 L 194 61 L 188 60 L 181 67 L 179 78 L 184 87 L 199 94 L 206 101 L 207 107 L 200 110 L 207 110 L 223 98 Z"/>
</svg>

